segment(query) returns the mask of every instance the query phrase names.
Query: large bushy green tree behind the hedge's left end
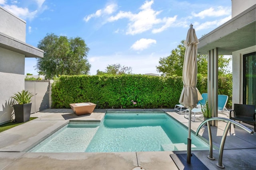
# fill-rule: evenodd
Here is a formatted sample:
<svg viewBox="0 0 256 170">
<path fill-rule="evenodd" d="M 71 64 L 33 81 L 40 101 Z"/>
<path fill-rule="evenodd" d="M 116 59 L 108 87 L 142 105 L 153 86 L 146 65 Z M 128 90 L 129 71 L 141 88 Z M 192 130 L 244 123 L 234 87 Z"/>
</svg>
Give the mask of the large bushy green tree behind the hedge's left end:
<svg viewBox="0 0 256 170">
<path fill-rule="evenodd" d="M 88 74 L 91 65 L 87 54 L 90 50 L 80 37 L 67 38 L 47 34 L 38 43 L 38 48 L 44 50 L 44 57 L 37 58 L 36 69 L 45 79 L 52 79 L 57 75 Z"/>
</svg>

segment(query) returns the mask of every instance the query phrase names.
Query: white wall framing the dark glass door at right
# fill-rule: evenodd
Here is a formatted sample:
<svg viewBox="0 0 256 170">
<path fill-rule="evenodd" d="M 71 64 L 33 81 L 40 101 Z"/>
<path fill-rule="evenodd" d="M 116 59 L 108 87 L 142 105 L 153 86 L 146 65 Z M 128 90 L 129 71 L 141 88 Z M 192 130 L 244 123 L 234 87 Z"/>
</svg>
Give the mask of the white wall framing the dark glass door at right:
<svg viewBox="0 0 256 170">
<path fill-rule="evenodd" d="M 243 55 L 256 51 L 256 45 L 232 52 L 233 92 L 232 108 L 234 103 L 243 103 Z"/>
</svg>

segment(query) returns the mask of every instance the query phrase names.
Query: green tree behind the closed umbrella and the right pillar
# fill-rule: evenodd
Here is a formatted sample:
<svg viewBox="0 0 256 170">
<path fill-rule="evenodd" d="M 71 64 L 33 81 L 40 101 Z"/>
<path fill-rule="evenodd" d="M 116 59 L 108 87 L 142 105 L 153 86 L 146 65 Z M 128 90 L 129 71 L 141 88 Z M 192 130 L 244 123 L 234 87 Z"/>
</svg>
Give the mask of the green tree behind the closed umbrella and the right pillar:
<svg viewBox="0 0 256 170">
<path fill-rule="evenodd" d="M 186 47 L 184 45 L 184 40 L 182 40 L 177 48 L 172 50 L 171 54 L 168 57 L 160 58 L 159 65 L 156 66 L 156 70 L 159 73 L 162 73 L 161 75 L 182 76 L 185 50 Z M 224 58 L 223 55 L 218 56 L 219 76 L 230 73 L 230 71 L 227 69 L 230 61 L 231 58 Z M 207 63 L 207 55 L 197 56 L 198 73 L 202 76 L 207 76 Z"/>
</svg>

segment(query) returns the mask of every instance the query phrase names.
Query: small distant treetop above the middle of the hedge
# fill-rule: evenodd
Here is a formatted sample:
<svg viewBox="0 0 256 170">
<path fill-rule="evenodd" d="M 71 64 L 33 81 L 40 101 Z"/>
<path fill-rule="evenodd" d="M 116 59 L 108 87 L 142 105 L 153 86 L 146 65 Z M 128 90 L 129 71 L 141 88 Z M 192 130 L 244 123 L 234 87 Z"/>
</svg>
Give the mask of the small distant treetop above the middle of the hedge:
<svg viewBox="0 0 256 170">
<path fill-rule="evenodd" d="M 106 67 L 105 71 L 97 70 L 97 75 L 121 75 L 121 74 L 131 74 L 132 67 L 127 67 L 120 64 L 112 64 Z"/>
</svg>

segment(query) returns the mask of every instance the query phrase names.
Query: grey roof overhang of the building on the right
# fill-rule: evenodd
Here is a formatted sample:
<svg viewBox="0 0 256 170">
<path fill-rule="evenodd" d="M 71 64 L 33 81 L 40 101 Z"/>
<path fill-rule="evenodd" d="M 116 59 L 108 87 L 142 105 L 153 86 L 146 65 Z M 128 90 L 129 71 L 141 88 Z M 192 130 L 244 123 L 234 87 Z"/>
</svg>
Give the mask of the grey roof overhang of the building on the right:
<svg viewBox="0 0 256 170">
<path fill-rule="evenodd" d="M 216 47 L 219 55 L 232 55 L 233 51 L 256 45 L 256 5 L 206 34 L 199 42 L 200 55 Z"/>
</svg>

